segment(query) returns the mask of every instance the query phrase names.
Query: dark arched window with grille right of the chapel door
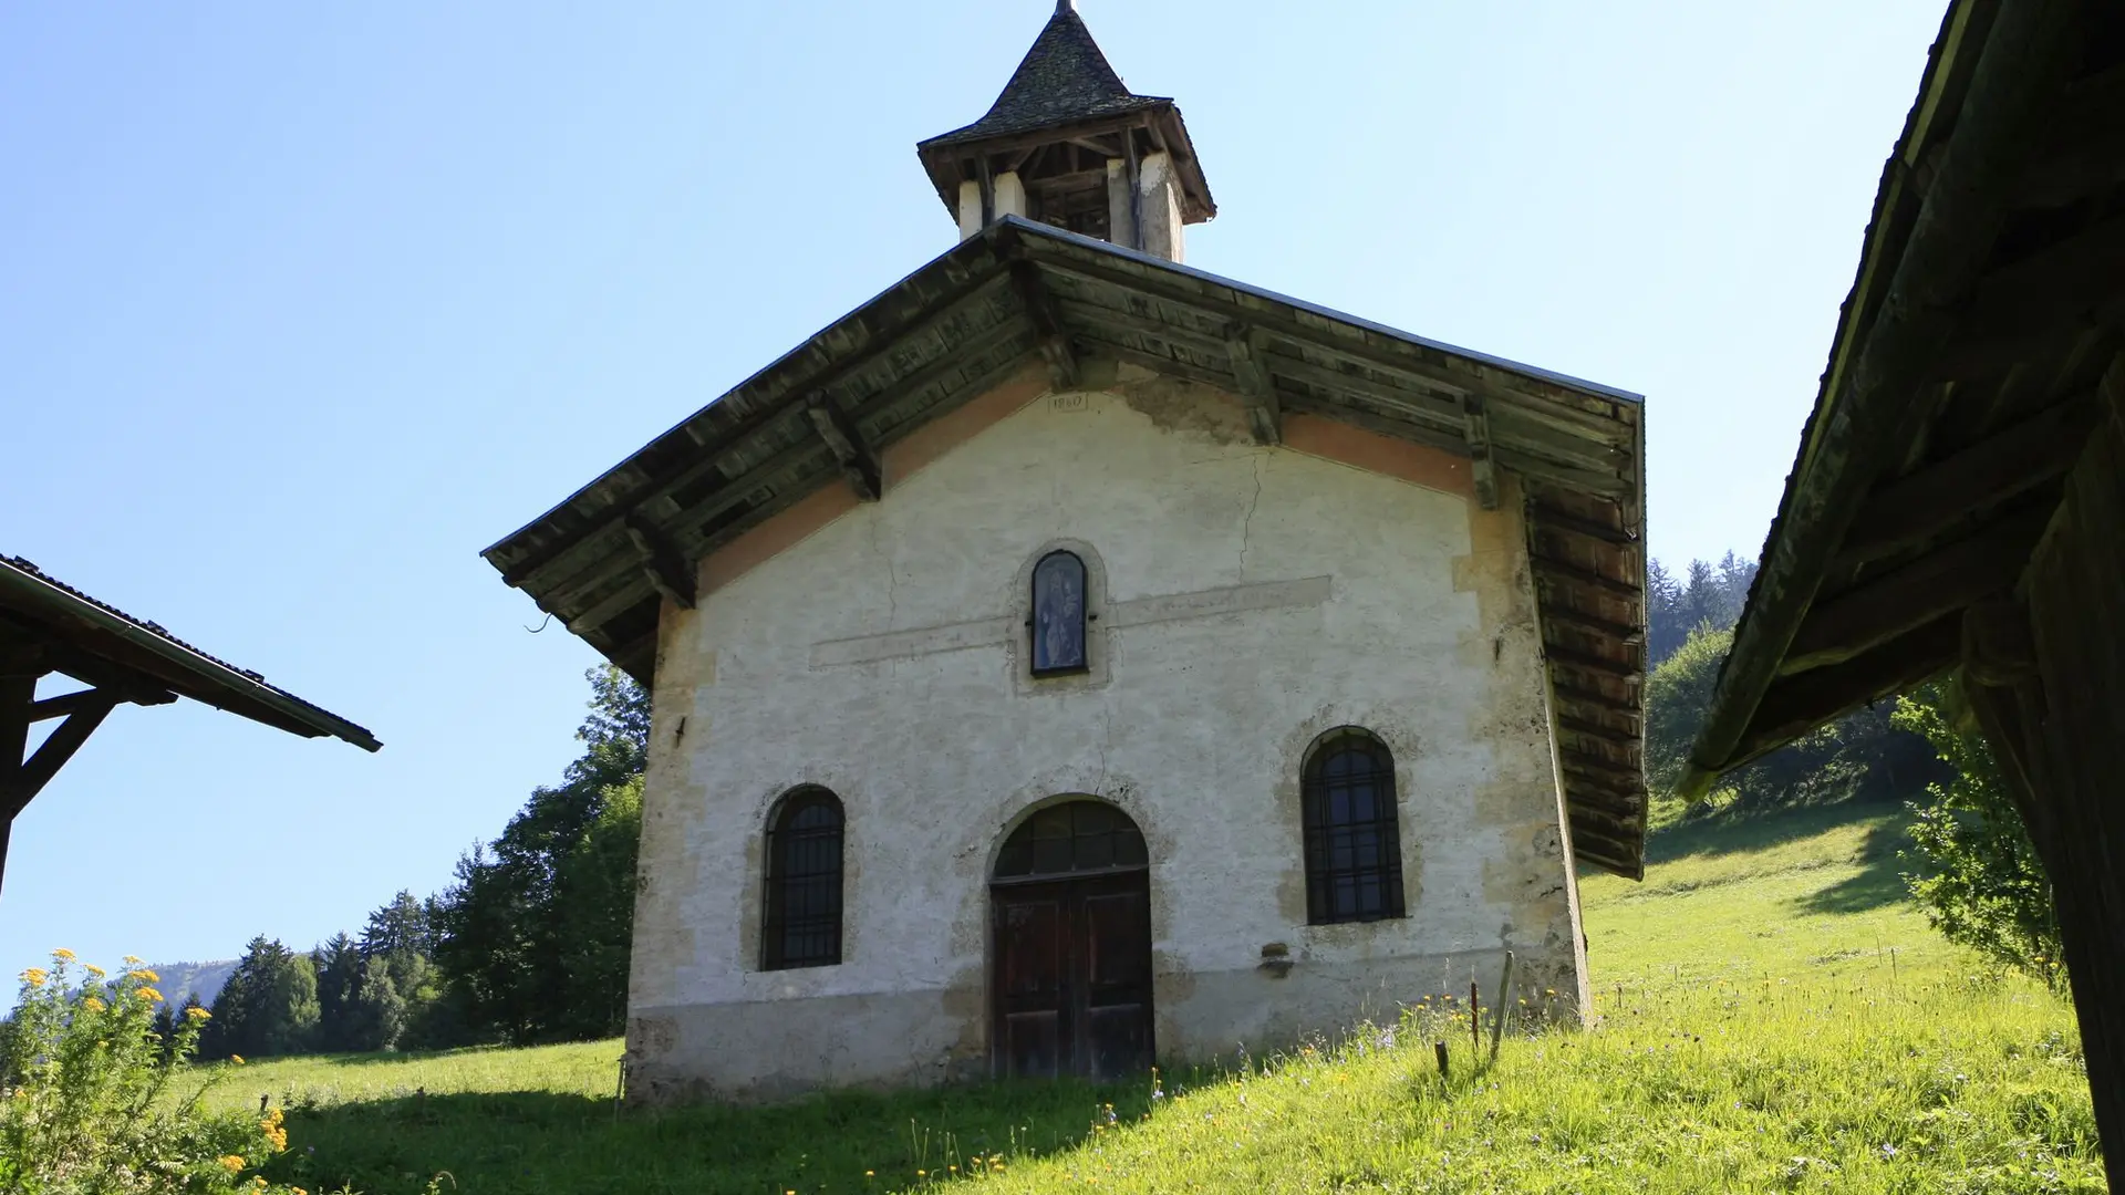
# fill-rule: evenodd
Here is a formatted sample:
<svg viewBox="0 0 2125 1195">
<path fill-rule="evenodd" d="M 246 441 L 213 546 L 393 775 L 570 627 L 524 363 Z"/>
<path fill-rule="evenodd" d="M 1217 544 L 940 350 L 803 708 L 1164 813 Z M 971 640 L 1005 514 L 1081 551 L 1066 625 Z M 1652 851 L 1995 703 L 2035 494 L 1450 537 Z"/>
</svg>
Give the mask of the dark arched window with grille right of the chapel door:
<svg viewBox="0 0 2125 1195">
<path fill-rule="evenodd" d="M 1394 757 L 1358 727 L 1324 734 L 1300 776 L 1307 831 L 1307 921 L 1402 916 L 1402 840 L 1394 821 Z"/>
</svg>

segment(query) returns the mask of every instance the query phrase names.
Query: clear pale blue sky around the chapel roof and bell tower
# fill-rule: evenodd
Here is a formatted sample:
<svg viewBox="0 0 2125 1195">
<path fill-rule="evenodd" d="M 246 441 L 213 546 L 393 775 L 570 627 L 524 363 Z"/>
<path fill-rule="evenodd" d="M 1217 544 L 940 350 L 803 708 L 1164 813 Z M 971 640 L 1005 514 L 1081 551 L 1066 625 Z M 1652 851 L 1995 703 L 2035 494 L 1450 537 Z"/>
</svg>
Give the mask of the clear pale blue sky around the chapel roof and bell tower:
<svg viewBox="0 0 2125 1195">
<path fill-rule="evenodd" d="M 1043 0 L 11 4 L 0 553 L 370 725 L 121 708 L 0 967 L 308 946 L 559 776 L 593 653 L 478 549 L 948 249 L 914 142 Z M 1653 553 L 1753 555 L 1940 0 L 1084 0 L 1192 264 L 1647 395 Z"/>
</svg>

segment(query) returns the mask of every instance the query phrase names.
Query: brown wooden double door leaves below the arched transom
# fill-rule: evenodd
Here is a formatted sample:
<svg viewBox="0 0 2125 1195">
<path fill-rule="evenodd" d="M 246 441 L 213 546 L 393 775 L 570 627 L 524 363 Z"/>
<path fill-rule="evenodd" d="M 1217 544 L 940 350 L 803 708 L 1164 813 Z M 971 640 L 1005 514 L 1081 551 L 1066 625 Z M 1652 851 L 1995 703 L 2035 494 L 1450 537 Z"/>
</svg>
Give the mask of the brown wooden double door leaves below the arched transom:
<svg viewBox="0 0 2125 1195">
<path fill-rule="evenodd" d="M 990 889 L 999 1076 L 1111 1080 L 1152 1065 L 1148 870 Z"/>
</svg>

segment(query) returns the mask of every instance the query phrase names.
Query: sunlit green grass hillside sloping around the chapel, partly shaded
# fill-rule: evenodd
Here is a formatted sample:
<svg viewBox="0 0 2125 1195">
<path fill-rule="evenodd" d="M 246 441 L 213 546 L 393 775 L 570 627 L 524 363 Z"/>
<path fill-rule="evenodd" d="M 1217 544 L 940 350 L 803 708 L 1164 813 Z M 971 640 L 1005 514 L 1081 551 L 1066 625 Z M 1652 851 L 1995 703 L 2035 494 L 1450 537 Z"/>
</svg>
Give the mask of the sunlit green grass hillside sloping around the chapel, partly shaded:
<svg viewBox="0 0 2125 1195">
<path fill-rule="evenodd" d="M 618 1042 L 227 1067 L 276 1178 L 423 1191 L 2102 1191 L 2072 1012 L 1902 902 L 1898 819 L 1677 827 L 1590 878 L 1600 1029 L 1394 1027 L 1120 1089 L 992 1084 L 623 1112 Z M 1441 1080 L 1432 1042 L 1454 1050 Z"/>
</svg>

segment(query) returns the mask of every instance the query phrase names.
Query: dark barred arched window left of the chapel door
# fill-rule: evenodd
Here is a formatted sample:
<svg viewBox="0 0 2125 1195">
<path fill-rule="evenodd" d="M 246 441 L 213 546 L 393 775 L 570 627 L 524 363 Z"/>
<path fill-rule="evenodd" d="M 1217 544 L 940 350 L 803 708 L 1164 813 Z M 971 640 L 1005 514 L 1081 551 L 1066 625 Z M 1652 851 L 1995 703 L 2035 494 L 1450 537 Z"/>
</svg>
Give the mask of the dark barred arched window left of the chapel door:
<svg viewBox="0 0 2125 1195">
<path fill-rule="evenodd" d="M 842 802 L 827 789 L 782 797 L 767 823 L 769 972 L 842 961 Z"/>
</svg>

